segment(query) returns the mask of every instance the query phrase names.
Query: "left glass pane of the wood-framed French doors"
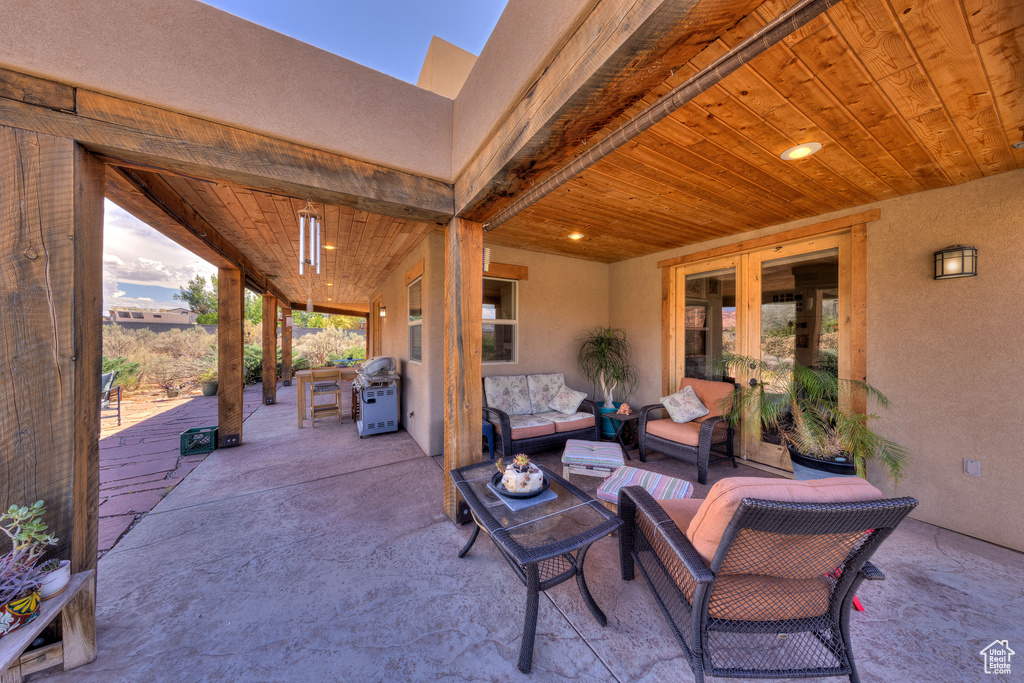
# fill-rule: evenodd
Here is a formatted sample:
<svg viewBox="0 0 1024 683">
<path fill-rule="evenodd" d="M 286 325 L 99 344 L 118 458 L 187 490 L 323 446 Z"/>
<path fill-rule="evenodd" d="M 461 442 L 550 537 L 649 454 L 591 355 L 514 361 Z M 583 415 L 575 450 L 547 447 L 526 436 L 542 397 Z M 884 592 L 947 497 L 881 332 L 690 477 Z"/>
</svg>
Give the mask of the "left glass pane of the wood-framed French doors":
<svg viewBox="0 0 1024 683">
<path fill-rule="evenodd" d="M 736 351 L 736 269 L 686 275 L 684 292 L 684 375 L 732 381 L 716 362 Z"/>
</svg>

